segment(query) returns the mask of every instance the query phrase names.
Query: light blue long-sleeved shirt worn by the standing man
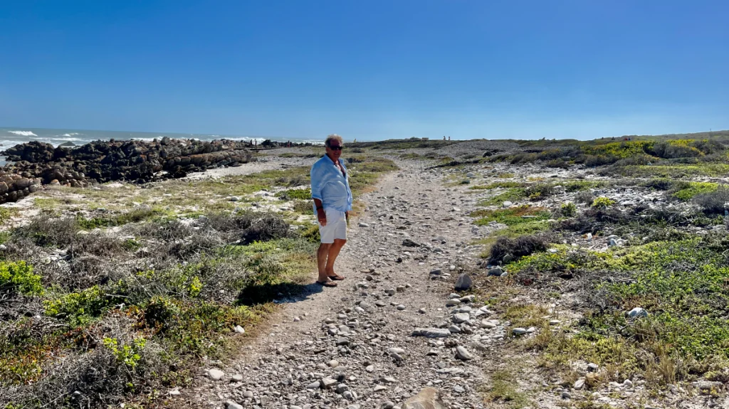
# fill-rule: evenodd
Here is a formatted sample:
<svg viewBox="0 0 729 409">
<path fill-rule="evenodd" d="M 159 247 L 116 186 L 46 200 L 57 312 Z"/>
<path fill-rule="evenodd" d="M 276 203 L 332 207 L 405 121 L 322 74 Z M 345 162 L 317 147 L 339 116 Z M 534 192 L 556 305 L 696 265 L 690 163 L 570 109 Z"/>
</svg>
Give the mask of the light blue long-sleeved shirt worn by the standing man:
<svg viewBox="0 0 729 409">
<path fill-rule="evenodd" d="M 339 164 L 347 174 L 334 164 L 329 156 L 316 161 L 311 167 L 311 197 L 321 200 L 324 209 L 334 209 L 340 212 L 352 210 L 352 191 L 349 190 L 349 172 L 340 158 Z M 316 205 L 314 206 L 316 214 Z"/>
</svg>

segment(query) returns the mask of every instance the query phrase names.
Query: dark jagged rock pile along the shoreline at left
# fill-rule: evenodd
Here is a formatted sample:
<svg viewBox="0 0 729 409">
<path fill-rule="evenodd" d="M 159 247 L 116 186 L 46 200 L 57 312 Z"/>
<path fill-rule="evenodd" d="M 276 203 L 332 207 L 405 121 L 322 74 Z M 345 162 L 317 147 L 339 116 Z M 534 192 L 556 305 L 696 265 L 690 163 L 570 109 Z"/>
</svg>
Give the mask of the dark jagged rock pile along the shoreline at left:
<svg viewBox="0 0 729 409">
<path fill-rule="evenodd" d="M 109 140 L 77 148 L 54 148 L 48 143 L 28 142 L 2 152 L 7 172 L 40 178 L 44 184 L 87 186 L 112 180 L 147 183 L 182 178 L 190 172 L 213 167 L 238 166 L 252 160 L 246 143 L 234 140 L 184 140 L 162 138 Z"/>
</svg>

